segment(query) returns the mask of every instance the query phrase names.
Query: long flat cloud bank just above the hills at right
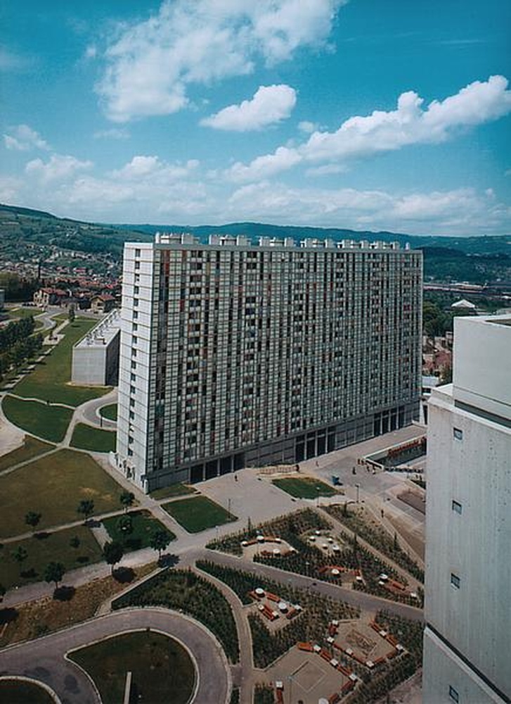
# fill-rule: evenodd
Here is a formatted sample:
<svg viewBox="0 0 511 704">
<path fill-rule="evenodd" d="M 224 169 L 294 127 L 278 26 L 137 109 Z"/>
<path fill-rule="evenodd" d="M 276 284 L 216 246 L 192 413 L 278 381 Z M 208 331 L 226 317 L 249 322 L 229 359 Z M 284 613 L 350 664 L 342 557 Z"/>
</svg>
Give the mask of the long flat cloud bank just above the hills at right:
<svg viewBox="0 0 511 704">
<path fill-rule="evenodd" d="M 383 190 L 300 189 L 268 181 L 236 189 L 229 220 L 389 230 L 409 234 L 504 234 L 511 209 L 474 189 L 392 194 Z"/>
</svg>

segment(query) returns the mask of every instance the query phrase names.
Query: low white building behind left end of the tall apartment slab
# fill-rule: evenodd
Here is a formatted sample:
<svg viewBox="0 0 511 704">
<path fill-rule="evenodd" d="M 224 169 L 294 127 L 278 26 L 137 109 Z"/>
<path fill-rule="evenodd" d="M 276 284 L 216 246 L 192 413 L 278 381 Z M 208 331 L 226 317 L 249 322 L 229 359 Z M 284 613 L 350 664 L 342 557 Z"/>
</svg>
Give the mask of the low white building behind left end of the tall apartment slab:
<svg viewBox="0 0 511 704">
<path fill-rule="evenodd" d="M 120 311 L 112 310 L 72 349 L 71 381 L 87 386 L 115 386 L 119 378 Z"/>
</svg>

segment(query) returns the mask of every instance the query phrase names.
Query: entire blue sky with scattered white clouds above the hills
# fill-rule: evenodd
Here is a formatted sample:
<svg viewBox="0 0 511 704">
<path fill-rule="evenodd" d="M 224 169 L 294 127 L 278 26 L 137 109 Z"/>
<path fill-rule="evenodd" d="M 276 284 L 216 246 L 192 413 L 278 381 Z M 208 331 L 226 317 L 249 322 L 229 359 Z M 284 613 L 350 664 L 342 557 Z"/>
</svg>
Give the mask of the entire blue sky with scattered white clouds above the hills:
<svg viewBox="0 0 511 704">
<path fill-rule="evenodd" d="M 511 4 L 4 0 L 0 201 L 511 234 Z"/>
</svg>

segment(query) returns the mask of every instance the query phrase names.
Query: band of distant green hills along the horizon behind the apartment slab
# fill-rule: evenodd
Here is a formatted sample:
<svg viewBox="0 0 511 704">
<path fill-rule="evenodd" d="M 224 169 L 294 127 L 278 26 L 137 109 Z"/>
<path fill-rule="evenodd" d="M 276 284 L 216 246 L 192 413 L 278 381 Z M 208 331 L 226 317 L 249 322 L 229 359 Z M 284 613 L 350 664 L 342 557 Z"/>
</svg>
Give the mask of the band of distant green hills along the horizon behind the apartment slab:
<svg viewBox="0 0 511 704">
<path fill-rule="evenodd" d="M 51 213 L 0 204 L 0 254 L 11 259 L 20 256 L 24 247 L 53 245 L 62 249 L 122 254 L 125 241 L 152 241 L 155 232 L 190 232 L 206 242 L 209 235 L 244 234 L 257 237 L 306 237 L 336 241 L 368 239 L 370 241 L 407 242 L 422 249 L 425 256 L 425 279 L 432 281 L 467 281 L 477 284 L 511 282 L 511 235 L 495 237 L 417 236 L 396 232 L 355 231 L 342 228 L 269 225 L 262 222 L 232 222 L 226 225 L 127 225 L 81 222 L 56 218 Z"/>
</svg>

